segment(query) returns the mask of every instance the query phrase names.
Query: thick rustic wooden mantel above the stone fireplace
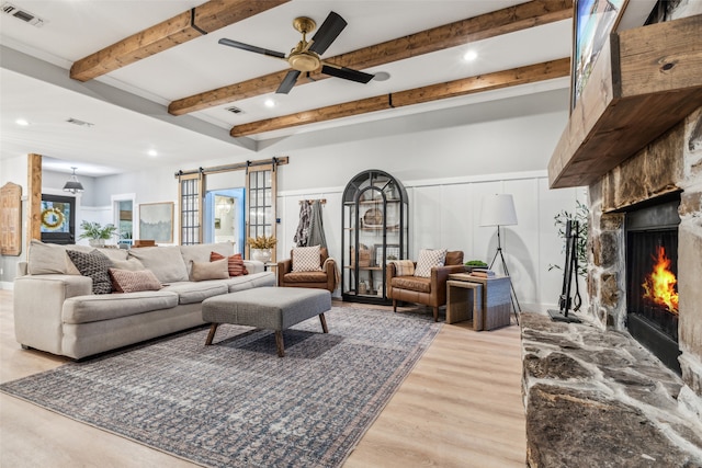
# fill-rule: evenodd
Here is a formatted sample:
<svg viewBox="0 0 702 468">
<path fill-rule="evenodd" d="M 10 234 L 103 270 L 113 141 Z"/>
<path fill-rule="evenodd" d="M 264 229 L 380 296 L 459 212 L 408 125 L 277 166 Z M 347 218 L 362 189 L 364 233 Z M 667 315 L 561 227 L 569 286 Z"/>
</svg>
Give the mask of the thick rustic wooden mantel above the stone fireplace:
<svg viewBox="0 0 702 468">
<path fill-rule="evenodd" d="M 590 185 L 702 105 L 702 15 L 612 34 L 548 163 Z"/>
</svg>

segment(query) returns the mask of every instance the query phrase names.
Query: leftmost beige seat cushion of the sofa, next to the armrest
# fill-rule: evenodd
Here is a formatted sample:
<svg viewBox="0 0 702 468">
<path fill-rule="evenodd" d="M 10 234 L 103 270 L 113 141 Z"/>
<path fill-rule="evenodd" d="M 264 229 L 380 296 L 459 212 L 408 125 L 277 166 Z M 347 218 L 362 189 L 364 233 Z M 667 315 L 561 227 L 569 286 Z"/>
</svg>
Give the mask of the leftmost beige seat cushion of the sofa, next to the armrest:
<svg viewBox="0 0 702 468">
<path fill-rule="evenodd" d="M 65 323 L 87 323 L 170 309 L 176 306 L 178 306 L 178 295 L 165 290 L 78 296 L 64 301 L 61 317 Z"/>
</svg>

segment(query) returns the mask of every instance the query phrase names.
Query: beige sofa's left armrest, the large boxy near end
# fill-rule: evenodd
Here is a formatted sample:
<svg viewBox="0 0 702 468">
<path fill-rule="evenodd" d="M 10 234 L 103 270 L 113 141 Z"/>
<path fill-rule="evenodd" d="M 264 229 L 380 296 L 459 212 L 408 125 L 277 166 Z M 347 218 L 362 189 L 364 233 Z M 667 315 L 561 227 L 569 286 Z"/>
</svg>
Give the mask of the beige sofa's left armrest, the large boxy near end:
<svg viewBox="0 0 702 468">
<path fill-rule="evenodd" d="M 14 336 L 20 344 L 63 354 L 61 310 L 69 297 L 92 294 L 79 275 L 26 275 L 14 281 Z"/>
</svg>

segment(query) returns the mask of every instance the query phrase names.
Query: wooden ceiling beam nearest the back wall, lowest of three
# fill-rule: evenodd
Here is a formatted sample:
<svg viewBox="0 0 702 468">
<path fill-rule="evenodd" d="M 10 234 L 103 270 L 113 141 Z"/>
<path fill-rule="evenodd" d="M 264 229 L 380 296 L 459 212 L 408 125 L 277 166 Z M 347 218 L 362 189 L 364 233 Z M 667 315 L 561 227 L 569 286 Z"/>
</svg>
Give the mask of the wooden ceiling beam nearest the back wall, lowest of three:
<svg viewBox="0 0 702 468">
<path fill-rule="evenodd" d="M 463 78 L 445 83 L 431 84 L 415 88 L 392 94 L 383 94 L 360 101 L 346 102 L 343 104 L 329 105 L 281 117 L 264 121 L 250 122 L 237 125 L 229 134 L 233 137 L 242 137 L 264 132 L 279 130 L 281 128 L 295 127 L 352 115 L 366 114 L 369 112 L 384 111 L 405 105 L 420 104 L 440 99 L 456 98 L 484 91 L 492 91 L 501 88 L 519 84 L 563 78 L 570 75 L 570 58 L 545 61 L 542 64 L 518 67 L 510 70 L 496 71 L 494 73 L 479 75 Z"/>
</svg>

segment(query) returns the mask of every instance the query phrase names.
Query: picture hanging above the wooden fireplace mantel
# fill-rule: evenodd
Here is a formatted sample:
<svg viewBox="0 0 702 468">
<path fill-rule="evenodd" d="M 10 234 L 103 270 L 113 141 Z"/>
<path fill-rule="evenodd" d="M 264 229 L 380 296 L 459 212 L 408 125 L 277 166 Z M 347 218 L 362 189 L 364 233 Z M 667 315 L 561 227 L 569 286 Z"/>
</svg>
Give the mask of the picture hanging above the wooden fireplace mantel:
<svg viewBox="0 0 702 468">
<path fill-rule="evenodd" d="M 588 82 L 595 61 L 616 31 L 629 0 L 575 0 L 573 7 L 573 59 L 570 66 L 570 111 Z"/>
</svg>

